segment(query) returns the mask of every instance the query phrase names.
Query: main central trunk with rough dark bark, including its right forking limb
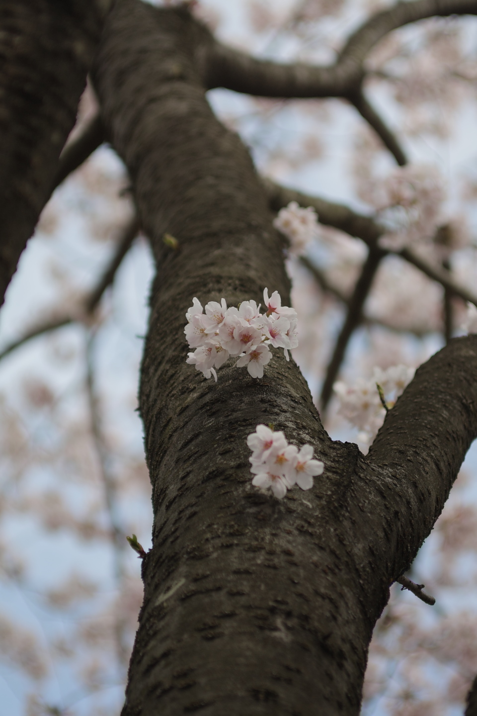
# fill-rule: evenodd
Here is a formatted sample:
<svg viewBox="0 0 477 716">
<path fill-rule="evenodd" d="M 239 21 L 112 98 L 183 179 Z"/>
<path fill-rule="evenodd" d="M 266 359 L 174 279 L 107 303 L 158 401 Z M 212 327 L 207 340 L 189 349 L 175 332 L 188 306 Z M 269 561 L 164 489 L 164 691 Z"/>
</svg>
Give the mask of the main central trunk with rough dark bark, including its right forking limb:
<svg viewBox="0 0 477 716">
<path fill-rule="evenodd" d="M 259 381 L 226 365 L 217 384 L 185 363 L 193 296 L 289 289 L 262 184 L 207 104 L 208 48 L 185 9 L 118 0 L 94 71 L 157 263 L 139 396 L 153 546 L 123 716 L 355 715 L 389 586 L 477 435 L 477 337 L 418 370 L 366 457 L 330 440 L 292 361 L 275 354 Z M 313 490 L 252 488 L 259 422 L 314 445 Z"/>
</svg>

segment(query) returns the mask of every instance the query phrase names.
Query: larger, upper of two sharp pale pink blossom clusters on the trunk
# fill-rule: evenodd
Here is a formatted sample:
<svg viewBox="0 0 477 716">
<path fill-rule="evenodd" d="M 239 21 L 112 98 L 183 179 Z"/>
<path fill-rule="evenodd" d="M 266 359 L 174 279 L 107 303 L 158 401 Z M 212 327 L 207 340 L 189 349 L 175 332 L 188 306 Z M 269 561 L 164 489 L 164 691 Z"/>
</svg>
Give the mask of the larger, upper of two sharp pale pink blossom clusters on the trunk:
<svg viewBox="0 0 477 716">
<path fill-rule="evenodd" d="M 263 291 L 265 311 L 255 301 L 242 301 L 227 309 L 225 299 L 220 304 L 209 301 L 205 313 L 200 301 L 192 299 L 185 314 L 184 332 L 190 348 L 187 363 L 195 365 L 206 378 L 214 376 L 216 368 L 229 357 L 239 357 L 236 366 L 247 370 L 252 378 L 263 377 L 263 367 L 270 362 L 270 346 L 282 348 L 288 360 L 288 351 L 298 345 L 298 321 L 295 309 L 282 306 L 278 291 L 270 299 L 268 289 Z"/>
</svg>

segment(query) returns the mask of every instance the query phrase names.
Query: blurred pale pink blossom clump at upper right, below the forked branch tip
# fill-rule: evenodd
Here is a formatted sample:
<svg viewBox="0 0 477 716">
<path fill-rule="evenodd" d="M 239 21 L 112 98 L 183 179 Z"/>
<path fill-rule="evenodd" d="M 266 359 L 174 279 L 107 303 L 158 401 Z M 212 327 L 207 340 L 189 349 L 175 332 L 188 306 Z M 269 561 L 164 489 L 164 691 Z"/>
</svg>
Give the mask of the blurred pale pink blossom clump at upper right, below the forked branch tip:
<svg viewBox="0 0 477 716">
<path fill-rule="evenodd" d="M 398 167 L 376 192 L 379 218 L 388 232 L 380 243 L 398 250 L 433 238 L 441 221 L 443 180 L 436 167 L 423 164 Z"/>
</svg>

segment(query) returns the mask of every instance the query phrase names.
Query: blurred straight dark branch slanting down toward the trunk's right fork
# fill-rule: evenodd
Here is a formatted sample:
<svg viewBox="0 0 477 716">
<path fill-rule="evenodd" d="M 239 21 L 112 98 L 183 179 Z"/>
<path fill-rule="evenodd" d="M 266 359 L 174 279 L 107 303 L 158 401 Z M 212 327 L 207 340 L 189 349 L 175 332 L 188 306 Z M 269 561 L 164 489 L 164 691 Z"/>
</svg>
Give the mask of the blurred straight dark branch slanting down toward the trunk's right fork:
<svg viewBox="0 0 477 716">
<path fill-rule="evenodd" d="M 366 258 L 363 264 L 360 277 L 358 281 L 356 281 L 355 290 L 348 301 L 348 311 L 345 322 L 336 341 L 335 350 L 328 364 L 325 382 L 323 382 L 323 388 L 321 389 L 320 403 L 322 411 L 326 410 L 328 402 L 330 401 L 333 392 L 333 383 L 343 363 L 348 342 L 355 328 L 357 328 L 363 320 L 363 306 L 373 285 L 373 280 L 378 271 L 380 261 L 384 256 L 385 251 L 381 251 L 380 248 L 370 248 L 368 258 Z"/>
</svg>

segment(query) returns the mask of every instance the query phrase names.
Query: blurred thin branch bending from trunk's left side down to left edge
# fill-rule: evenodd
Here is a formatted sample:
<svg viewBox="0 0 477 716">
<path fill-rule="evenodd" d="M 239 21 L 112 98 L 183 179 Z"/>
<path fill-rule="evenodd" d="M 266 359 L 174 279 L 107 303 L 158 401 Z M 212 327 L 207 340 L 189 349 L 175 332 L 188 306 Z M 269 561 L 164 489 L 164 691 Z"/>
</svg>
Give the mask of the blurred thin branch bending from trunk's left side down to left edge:
<svg viewBox="0 0 477 716">
<path fill-rule="evenodd" d="M 89 294 L 89 296 L 87 296 L 87 299 L 84 301 L 84 308 L 82 310 L 79 310 L 75 315 L 66 314 L 64 316 L 59 316 L 54 319 L 46 320 L 44 321 L 44 323 L 39 324 L 35 328 L 32 328 L 30 331 L 26 332 L 24 336 L 7 346 L 0 353 L 0 360 L 12 351 L 19 348 L 20 346 L 29 342 L 31 339 L 34 339 L 38 336 L 42 336 L 45 333 L 55 331 L 56 329 L 62 328 L 63 326 L 68 326 L 69 324 L 76 323 L 81 319 L 81 316 L 91 315 L 94 312 L 94 309 L 99 304 L 99 301 L 101 301 L 102 296 L 104 295 L 104 291 L 106 291 L 106 289 L 111 286 L 112 282 L 114 281 L 116 271 L 117 269 L 119 269 L 122 259 L 126 255 L 129 246 L 131 246 L 134 237 L 137 236 L 138 231 L 139 222 L 137 220 L 137 217 L 134 216 L 127 223 L 127 225 L 124 226 L 122 236 L 119 239 L 119 243 L 116 247 L 116 251 L 114 251 L 112 259 L 109 262 L 106 271 L 104 271 L 104 274 L 102 274 L 101 279 L 99 279 L 96 288 L 93 289 L 91 294 Z"/>
</svg>

